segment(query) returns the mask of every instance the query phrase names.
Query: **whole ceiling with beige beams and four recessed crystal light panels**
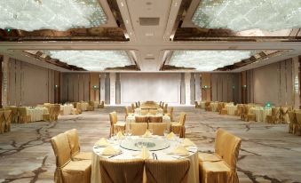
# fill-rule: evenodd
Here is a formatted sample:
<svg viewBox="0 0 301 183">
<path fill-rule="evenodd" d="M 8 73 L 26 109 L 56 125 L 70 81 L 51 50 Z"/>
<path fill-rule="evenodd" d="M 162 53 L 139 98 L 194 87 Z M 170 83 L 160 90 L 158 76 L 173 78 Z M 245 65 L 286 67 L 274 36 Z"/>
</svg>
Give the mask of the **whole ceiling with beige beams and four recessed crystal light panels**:
<svg viewBox="0 0 301 183">
<path fill-rule="evenodd" d="M 301 20 L 296 18 L 301 4 L 296 0 L 262 5 L 250 0 L 68 1 L 80 3 L 67 7 L 68 12 L 58 8 L 66 7 L 61 0 L 21 0 L 33 6 L 27 11 L 21 6 L 7 11 L 12 4 L 0 3 L 2 12 L 6 10 L 0 15 L 0 53 L 62 72 L 241 72 L 301 54 Z M 250 5 L 234 12 L 242 4 Z M 85 5 L 86 11 L 78 12 L 76 5 Z M 39 12 L 42 6 L 42 12 L 57 7 L 53 13 L 61 13 L 59 20 L 72 13 L 77 17 L 45 24 L 49 18 Z M 70 51 L 75 60 L 88 55 L 85 63 L 66 60 Z M 116 52 L 123 52 L 127 61 L 114 60 Z"/>
</svg>

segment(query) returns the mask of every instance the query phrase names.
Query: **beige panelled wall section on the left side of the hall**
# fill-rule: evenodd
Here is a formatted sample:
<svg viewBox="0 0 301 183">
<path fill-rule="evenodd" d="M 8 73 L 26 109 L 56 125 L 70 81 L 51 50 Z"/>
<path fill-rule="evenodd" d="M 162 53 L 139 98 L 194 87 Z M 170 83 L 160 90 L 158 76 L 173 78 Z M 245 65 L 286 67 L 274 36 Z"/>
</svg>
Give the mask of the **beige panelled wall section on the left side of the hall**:
<svg viewBox="0 0 301 183">
<path fill-rule="evenodd" d="M 7 105 L 36 106 L 54 102 L 58 72 L 20 60 L 9 60 Z"/>
</svg>

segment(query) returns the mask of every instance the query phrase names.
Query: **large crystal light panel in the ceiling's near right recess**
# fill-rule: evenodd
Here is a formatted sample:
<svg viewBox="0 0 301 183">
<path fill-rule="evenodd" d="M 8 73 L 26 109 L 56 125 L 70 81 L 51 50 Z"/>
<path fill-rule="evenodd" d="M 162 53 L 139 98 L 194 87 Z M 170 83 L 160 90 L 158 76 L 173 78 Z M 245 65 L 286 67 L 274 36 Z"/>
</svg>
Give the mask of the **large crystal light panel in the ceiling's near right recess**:
<svg viewBox="0 0 301 183">
<path fill-rule="evenodd" d="M 300 0 L 203 0 L 192 21 L 201 28 L 276 31 L 301 28 Z"/>
</svg>

